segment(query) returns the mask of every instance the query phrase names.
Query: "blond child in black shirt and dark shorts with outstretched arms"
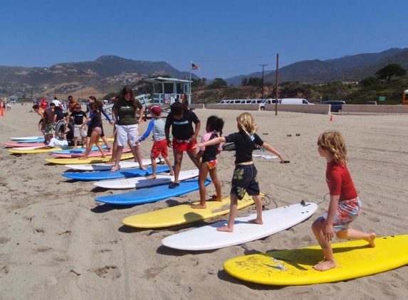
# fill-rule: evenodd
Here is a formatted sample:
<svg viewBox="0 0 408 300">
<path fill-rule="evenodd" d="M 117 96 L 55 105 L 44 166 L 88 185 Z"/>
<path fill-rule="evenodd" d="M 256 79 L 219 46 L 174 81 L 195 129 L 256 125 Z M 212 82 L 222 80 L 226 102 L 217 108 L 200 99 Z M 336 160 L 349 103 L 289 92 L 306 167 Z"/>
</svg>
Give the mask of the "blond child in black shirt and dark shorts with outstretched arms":
<svg viewBox="0 0 408 300">
<path fill-rule="evenodd" d="M 236 217 L 236 206 L 238 200 L 244 198 L 245 193 L 251 195 L 256 204 L 256 219 L 249 220 L 249 222 L 256 224 L 263 224 L 262 220 L 262 199 L 260 195 L 258 178 L 256 175 L 255 165 L 252 161 L 252 151 L 255 144 L 261 146 L 262 148 L 268 150 L 269 152 L 276 154 L 281 163 L 283 163 L 283 156 L 273 149 L 271 145 L 268 145 L 262 141 L 262 139 L 256 134 L 256 124 L 253 122 L 253 117 L 248 112 L 244 112 L 236 117 L 236 122 L 238 123 L 239 132 L 234 134 L 229 134 L 227 136 L 218 137 L 215 139 L 210 139 L 205 143 L 198 143 L 194 148 L 209 146 L 218 143 L 235 143 L 236 149 L 236 160 L 234 176 L 231 180 L 231 204 L 229 208 L 229 221 L 228 225 L 224 227 L 219 227 L 216 230 L 233 232 L 234 231 L 234 220 Z"/>
</svg>

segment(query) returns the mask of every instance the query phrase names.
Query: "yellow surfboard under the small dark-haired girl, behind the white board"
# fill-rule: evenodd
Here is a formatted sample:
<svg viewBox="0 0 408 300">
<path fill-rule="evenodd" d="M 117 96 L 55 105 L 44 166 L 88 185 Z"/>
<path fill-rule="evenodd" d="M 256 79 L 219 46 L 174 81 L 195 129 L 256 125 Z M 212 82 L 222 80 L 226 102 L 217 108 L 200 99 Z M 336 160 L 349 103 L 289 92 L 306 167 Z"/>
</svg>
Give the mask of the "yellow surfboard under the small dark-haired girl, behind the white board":
<svg viewBox="0 0 408 300">
<path fill-rule="evenodd" d="M 193 223 L 229 213 L 229 197 L 224 198 L 222 202 L 206 201 L 205 209 L 191 208 L 192 205 L 198 203 L 180 204 L 171 208 L 132 215 L 123 219 L 122 223 L 139 228 L 160 228 Z M 238 201 L 238 209 L 246 208 L 246 206 L 251 204 L 253 204 L 253 199 L 250 195 L 246 194 L 242 200 Z"/>
</svg>

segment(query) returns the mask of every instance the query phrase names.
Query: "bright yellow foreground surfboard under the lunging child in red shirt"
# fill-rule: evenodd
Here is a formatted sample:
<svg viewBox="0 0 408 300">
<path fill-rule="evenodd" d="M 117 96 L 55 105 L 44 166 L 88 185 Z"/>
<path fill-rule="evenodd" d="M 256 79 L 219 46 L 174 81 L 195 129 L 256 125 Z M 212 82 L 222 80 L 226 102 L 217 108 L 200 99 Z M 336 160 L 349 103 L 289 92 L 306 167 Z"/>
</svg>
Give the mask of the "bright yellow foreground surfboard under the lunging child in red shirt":
<svg viewBox="0 0 408 300">
<path fill-rule="evenodd" d="M 312 268 L 323 260 L 320 246 L 236 257 L 224 262 L 224 269 L 246 282 L 303 285 L 355 279 L 408 264 L 408 235 L 377 237 L 375 242 L 374 248 L 364 240 L 333 244 L 337 267 L 325 272 Z"/>
</svg>

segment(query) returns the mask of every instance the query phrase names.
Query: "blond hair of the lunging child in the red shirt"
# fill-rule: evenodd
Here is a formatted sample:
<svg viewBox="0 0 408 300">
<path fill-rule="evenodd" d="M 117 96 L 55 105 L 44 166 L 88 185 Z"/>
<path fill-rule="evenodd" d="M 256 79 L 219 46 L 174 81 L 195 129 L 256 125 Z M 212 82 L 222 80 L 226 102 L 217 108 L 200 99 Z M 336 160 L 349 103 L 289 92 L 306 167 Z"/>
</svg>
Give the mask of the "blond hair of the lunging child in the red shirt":
<svg viewBox="0 0 408 300">
<path fill-rule="evenodd" d="M 348 160 L 347 148 L 340 132 L 323 132 L 323 134 L 320 134 L 318 138 L 318 146 L 320 146 L 323 150 L 330 151 L 330 153 L 333 155 L 333 159 L 337 163 L 345 165 L 346 161 Z"/>
</svg>

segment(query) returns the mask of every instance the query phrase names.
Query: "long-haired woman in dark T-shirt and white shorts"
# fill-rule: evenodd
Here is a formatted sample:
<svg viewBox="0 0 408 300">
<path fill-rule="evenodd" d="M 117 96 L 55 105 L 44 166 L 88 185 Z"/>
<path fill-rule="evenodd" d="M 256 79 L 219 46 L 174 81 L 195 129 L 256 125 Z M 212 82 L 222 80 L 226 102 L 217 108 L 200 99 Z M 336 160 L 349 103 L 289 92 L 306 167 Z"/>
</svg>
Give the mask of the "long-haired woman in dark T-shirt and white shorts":
<svg viewBox="0 0 408 300">
<path fill-rule="evenodd" d="M 139 117 L 136 116 L 137 109 L 140 110 Z M 135 153 L 135 159 L 139 163 L 139 168 L 146 170 L 142 163 L 142 154 L 140 146 L 136 141 L 139 139 L 139 124 L 142 122 L 143 112 L 145 109 L 139 100 L 135 99 L 132 92 L 132 87 L 123 87 L 122 97 L 115 103 L 112 109 L 116 124 L 116 156 L 115 166 L 111 171 L 116 171 L 119 168 L 120 158 L 122 157 L 123 147 L 129 139 Z"/>
</svg>

